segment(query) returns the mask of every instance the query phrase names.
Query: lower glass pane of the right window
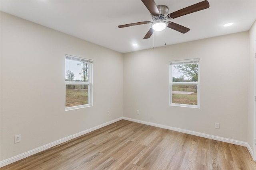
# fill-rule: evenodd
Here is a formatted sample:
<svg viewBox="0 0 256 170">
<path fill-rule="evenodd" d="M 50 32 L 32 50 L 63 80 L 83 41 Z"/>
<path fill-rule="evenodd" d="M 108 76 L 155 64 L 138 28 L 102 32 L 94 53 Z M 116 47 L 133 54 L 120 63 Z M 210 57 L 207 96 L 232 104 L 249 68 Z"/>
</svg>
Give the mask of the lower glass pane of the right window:
<svg viewBox="0 0 256 170">
<path fill-rule="evenodd" d="M 172 85 L 172 103 L 197 105 L 197 85 Z"/>
</svg>

